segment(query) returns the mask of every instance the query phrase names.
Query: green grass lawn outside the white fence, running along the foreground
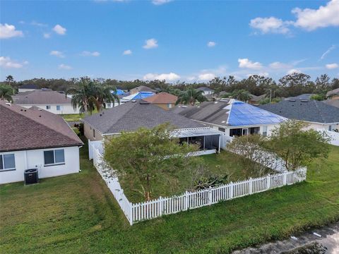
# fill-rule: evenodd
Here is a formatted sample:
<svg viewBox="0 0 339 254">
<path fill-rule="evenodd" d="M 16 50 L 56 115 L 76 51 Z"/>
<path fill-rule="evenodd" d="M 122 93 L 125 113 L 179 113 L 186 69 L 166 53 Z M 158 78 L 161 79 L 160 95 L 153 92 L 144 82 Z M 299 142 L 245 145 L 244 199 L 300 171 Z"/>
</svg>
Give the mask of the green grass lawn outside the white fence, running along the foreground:
<svg viewBox="0 0 339 254">
<path fill-rule="evenodd" d="M 79 174 L 0 186 L 1 253 L 230 253 L 339 219 L 339 147 L 307 182 L 133 226 L 87 155 Z"/>
</svg>

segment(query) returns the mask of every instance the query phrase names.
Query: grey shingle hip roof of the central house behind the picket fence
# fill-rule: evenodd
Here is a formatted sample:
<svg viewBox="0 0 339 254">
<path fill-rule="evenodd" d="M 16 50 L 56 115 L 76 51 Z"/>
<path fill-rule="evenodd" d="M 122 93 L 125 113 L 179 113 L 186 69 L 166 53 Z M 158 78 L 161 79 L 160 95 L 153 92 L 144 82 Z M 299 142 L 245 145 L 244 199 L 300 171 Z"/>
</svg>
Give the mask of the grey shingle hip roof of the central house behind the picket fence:
<svg viewBox="0 0 339 254">
<path fill-rule="evenodd" d="M 166 122 L 176 128 L 205 127 L 201 123 L 196 123 L 172 111 L 165 111 L 143 100 L 126 102 L 112 109 L 106 109 L 102 113 L 85 117 L 83 121 L 102 134 L 135 131 L 140 127 L 153 128 Z"/>
</svg>

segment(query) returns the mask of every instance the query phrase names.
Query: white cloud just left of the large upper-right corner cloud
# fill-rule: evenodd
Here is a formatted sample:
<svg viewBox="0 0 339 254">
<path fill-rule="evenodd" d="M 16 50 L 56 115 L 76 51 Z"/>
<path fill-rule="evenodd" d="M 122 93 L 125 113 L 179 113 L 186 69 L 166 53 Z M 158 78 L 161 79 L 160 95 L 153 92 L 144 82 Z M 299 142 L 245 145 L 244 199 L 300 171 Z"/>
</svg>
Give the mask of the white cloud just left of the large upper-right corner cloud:
<svg viewBox="0 0 339 254">
<path fill-rule="evenodd" d="M 270 18 L 254 18 L 251 20 L 249 25 L 251 28 L 258 29 L 261 33 L 280 33 L 287 34 L 290 32 L 290 29 L 287 28 L 290 25 L 290 21 L 283 21 L 280 18 L 270 17 Z"/>
</svg>

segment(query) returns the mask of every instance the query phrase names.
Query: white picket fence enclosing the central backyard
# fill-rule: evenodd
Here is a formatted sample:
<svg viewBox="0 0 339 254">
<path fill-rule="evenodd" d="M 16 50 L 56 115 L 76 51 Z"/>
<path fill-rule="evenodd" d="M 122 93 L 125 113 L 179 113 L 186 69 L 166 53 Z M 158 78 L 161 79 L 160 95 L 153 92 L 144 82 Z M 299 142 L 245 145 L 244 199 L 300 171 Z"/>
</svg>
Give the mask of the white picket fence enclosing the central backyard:
<svg viewBox="0 0 339 254">
<path fill-rule="evenodd" d="M 218 187 L 208 188 L 201 191 L 183 193 L 167 198 L 157 198 L 147 202 L 133 204 L 129 202 L 124 195 L 124 190 L 119 184 L 117 177 L 107 176 L 102 165 L 102 152 L 100 144 L 97 141 L 88 141 L 90 159 L 93 158 L 93 164 L 97 171 L 106 182 L 109 190 L 119 203 L 121 210 L 126 215 L 129 223 L 132 225 L 145 219 L 153 219 L 164 214 L 174 214 L 206 205 L 213 205 L 220 201 L 231 200 L 233 198 L 243 197 L 254 193 L 260 193 L 272 188 L 298 183 L 306 179 L 307 168 L 302 167 L 297 171 L 284 171 L 280 174 L 273 174 L 246 181 L 238 181 Z"/>
</svg>

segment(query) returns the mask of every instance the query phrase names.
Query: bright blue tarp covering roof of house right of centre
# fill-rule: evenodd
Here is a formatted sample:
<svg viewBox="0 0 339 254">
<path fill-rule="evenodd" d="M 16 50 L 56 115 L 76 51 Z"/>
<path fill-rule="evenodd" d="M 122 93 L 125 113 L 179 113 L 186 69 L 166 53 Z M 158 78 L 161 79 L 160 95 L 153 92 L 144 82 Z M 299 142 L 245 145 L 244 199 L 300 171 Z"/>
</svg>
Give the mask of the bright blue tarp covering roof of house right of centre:
<svg viewBox="0 0 339 254">
<path fill-rule="evenodd" d="M 227 123 L 231 126 L 249 126 L 280 123 L 284 120 L 286 119 L 283 116 L 234 100 Z"/>
</svg>

